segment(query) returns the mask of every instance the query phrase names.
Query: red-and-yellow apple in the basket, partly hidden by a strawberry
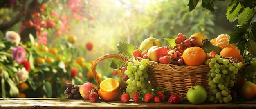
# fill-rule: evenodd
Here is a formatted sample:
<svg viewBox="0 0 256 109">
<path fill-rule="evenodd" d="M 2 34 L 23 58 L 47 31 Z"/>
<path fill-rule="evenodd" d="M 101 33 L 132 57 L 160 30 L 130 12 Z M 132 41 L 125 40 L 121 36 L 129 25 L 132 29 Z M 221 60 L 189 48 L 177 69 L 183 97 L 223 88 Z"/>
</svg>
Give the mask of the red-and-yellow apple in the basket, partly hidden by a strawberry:
<svg viewBox="0 0 256 109">
<path fill-rule="evenodd" d="M 159 62 L 159 58 L 167 55 L 165 48 L 152 46 L 148 49 L 148 59 L 150 61 Z"/>
</svg>

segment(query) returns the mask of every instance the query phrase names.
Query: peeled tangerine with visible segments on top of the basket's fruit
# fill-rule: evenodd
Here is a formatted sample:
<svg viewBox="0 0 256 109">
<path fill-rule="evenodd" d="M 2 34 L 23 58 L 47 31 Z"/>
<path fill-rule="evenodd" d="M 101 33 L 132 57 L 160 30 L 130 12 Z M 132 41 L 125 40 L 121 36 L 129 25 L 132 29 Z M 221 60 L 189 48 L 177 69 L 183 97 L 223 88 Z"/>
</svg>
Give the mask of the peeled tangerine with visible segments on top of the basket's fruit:
<svg viewBox="0 0 256 109">
<path fill-rule="evenodd" d="M 229 40 L 230 36 L 227 34 L 220 34 L 216 38 L 216 45 L 220 48 L 223 49 L 229 45 Z"/>
</svg>

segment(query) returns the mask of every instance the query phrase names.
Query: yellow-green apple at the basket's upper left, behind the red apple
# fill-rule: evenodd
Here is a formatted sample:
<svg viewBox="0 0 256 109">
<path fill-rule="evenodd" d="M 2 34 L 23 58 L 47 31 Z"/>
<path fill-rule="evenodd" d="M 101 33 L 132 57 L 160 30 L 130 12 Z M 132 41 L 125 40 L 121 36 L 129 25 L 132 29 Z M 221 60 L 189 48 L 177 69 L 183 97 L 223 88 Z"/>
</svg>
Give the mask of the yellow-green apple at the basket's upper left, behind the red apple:
<svg viewBox="0 0 256 109">
<path fill-rule="evenodd" d="M 156 39 L 154 37 L 149 37 L 147 39 L 144 39 L 140 46 L 139 49 L 144 51 L 144 50 L 148 50 L 150 47 L 152 46 L 158 46 L 158 47 L 163 47 L 162 43 L 159 39 Z"/>
</svg>

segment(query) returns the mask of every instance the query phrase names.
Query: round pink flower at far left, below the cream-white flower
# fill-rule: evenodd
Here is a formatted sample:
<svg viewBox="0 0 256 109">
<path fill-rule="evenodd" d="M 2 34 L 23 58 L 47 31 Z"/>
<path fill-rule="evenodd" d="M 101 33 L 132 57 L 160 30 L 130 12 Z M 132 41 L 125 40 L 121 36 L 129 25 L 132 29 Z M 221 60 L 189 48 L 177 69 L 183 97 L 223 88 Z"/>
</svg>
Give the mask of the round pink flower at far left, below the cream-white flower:
<svg viewBox="0 0 256 109">
<path fill-rule="evenodd" d="M 13 48 L 13 60 L 15 60 L 18 64 L 21 64 L 25 57 L 26 57 L 26 51 L 21 46 L 18 46 L 16 48 Z"/>
</svg>

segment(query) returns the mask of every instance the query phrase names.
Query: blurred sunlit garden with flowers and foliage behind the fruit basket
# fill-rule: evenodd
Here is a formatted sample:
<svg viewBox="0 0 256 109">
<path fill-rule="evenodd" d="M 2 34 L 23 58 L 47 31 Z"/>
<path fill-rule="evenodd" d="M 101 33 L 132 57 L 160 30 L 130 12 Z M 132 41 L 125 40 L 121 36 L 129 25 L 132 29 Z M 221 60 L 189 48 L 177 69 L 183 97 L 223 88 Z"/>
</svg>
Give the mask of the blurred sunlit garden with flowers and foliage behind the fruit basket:
<svg viewBox="0 0 256 109">
<path fill-rule="evenodd" d="M 189 1 L 1 0 L 0 96 L 66 97 L 66 83 L 95 83 L 94 60 L 117 53 L 119 42 L 139 46 L 155 37 L 167 46 L 163 38 L 178 33 L 202 32 L 213 39 L 236 31 L 238 22 L 225 15 L 231 0 L 214 0 L 214 12 L 202 0 L 195 0 L 192 11 Z M 97 65 L 101 79 L 115 78 L 110 63 Z"/>
</svg>

